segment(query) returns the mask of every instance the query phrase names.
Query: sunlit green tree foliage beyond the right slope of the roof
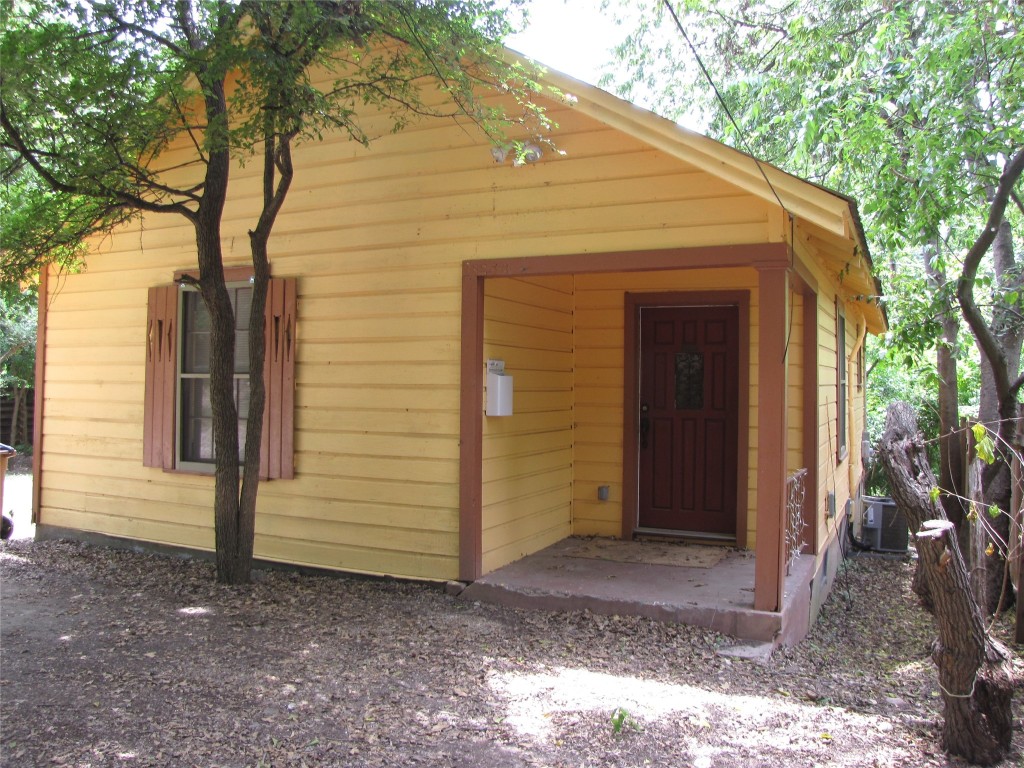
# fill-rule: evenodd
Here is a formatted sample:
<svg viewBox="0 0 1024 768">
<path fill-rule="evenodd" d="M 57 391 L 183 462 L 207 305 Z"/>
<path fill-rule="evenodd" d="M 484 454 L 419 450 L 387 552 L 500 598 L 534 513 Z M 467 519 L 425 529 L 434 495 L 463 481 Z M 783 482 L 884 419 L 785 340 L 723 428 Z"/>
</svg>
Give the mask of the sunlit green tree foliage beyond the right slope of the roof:
<svg viewBox="0 0 1024 768">
<path fill-rule="evenodd" d="M 694 66 L 673 12 L 735 124 Z M 1000 173 L 1024 146 L 1024 8 L 1012 0 L 685 0 L 651 2 L 641 16 L 618 51 L 634 73 L 618 83 L 623 92 L 645 88 L 669 117 L 697 112 L 712 135 L 860 202 L 892 328 L 876 379 L 899 366 L 927 371 L 936 385 L 940 481 L 962 489 L 950 439 L 963 413 L 958 364 L 979 358 L 982 326 L 992 343 L 980 355 L 976 414 L 1010 438 L 1007 415 L 1019 399 L 1019 187 L 1009 191 L 998 237 L 975 276 L 961 279 L 971 271 L 965 259 L 987 225 Z M 674 86 L 659 91 L 659 81 Z M 965 329 L 961 310 L 972 305 Z M 993 370 L 996 351 L 1002 362 Z M 985 487 L 986 502 L 1009 511 L 1006 467 L 986 470 Z M 952 497 L 944 506 L 961 516 Z M 998 518 L 1002 541 L 1008 521 Z M 992 571 L 990 584 L 998 585 L 1001 563 Z M 998 590 L 989 593 L 991 610 Z"/>
</svg>

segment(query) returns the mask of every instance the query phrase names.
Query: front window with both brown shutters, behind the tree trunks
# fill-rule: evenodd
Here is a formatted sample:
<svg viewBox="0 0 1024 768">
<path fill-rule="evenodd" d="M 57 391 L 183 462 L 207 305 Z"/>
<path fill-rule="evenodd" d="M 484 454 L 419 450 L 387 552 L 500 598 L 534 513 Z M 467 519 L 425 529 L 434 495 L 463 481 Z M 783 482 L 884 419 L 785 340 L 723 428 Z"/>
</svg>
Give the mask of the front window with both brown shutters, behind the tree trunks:
<svg viewBox="0 0 1024 768">
<path fill-rule="evenodd" d="M 252 289 L 248 274 L 246 269 L 225 270 L 236 309 L 234 402 L 240 442 L 245 439 L 249 409 Z M 266 406 L 260 450 L 260 476 L 264 478 L 294 475 L 295 305 L 295 280 L 272 279 L 265 312 Z M 150 289 L 142 451 L 147 467 L 205 471 L 213 463 L 209 338 L 209 315 L 198 292 L 176 285 Z"/>
</svg>

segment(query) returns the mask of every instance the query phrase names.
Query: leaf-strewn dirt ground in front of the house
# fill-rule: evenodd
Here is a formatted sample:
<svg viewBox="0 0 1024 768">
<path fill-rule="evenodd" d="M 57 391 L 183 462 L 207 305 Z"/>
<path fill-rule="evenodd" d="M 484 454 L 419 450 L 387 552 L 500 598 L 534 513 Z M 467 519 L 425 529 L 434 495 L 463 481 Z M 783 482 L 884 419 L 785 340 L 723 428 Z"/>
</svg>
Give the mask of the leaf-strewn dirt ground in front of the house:
<svg viewBox="0 0 1024 768">
<path fill-rule="evenodd" d="M 209 562 L 12 541 L 0 764 L 958 766 L 910 568 L 852 560 L 762 665 L 648 620 L 287 571 L 228 588 Z"/>
</svg>

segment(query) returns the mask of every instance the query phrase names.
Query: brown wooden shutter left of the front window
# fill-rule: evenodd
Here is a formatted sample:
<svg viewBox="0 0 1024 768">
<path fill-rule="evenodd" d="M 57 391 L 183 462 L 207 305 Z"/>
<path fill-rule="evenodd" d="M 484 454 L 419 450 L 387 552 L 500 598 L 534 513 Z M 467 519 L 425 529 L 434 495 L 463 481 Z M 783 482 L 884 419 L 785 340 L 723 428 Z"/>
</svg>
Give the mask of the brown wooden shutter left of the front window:
<svg viewBox="0 0 1024 768">
<path fill-rule="evenodd" d="M 174 390 L 177 366 L 177 286 L 150 289 L 145 332 L 142 464 L 174 468 Z"/>
</svg>

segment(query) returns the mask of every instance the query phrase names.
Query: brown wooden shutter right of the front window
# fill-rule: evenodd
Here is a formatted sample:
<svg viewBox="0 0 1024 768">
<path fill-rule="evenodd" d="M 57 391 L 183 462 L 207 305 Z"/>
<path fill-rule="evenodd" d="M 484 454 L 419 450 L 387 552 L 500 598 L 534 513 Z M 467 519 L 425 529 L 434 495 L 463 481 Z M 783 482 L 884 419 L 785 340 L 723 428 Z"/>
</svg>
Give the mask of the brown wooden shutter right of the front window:
<svg viewBox="0 0 1024 768">
<path fill-rule="evenodd" d="M 266 294 L 266 361 L 263 365 L 266 404 L 260 450 L 260 476 L 264 478 L 295 476 L 295 298 L 294 278 L 270 280 Z"/>
</svg>

